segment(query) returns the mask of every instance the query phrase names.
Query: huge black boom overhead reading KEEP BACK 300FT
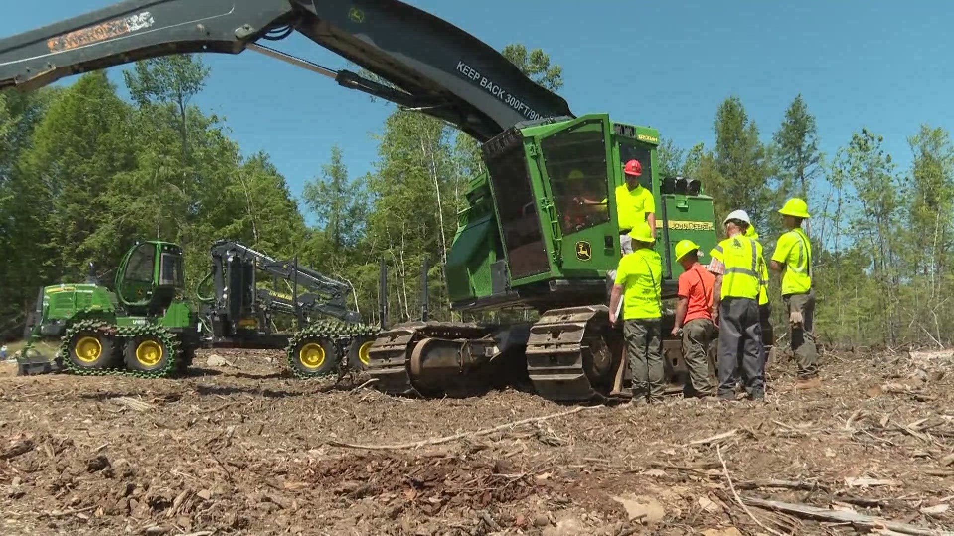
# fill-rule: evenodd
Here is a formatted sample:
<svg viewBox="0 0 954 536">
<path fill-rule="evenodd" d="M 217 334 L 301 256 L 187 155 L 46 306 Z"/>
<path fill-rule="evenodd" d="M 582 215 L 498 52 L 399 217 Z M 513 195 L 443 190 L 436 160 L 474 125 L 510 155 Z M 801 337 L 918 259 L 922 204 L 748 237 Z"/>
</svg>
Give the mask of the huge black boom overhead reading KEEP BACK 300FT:
<svg viewBox="0 0 954 536">
<path fill-rule="evenodd" d="M 259 44 L 299 31 L 400 89 Z M 344 87 L 438 117 L 480 141 L 512 125 L 572 116 L 466 31 L 398 0 L 127 0 L 0 40 L 0 88 L 186 52 L 266 53 Z"/>
</svg>

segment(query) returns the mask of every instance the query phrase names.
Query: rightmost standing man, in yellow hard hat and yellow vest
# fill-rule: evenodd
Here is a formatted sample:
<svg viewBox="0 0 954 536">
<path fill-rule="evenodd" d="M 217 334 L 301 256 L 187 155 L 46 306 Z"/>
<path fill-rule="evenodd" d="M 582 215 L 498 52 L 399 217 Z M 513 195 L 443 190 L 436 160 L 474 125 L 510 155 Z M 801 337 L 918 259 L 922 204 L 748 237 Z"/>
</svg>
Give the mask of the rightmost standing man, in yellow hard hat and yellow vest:
<svg viewBox="0 0 954 536">
<path fill-rule="evenodd" d="M 812 289 L 812 244 L 801 230 L 811 217 L 808 203 L 798 197 L 778 210 L 788 232 L 778 237 L 772 269 L 781 272 L 781 297 L 789 313 L 789 340 L 798 361 L 798 387 L 818 383 L 818 349 L 815 344 L 815 291 Z"/>
</svg>

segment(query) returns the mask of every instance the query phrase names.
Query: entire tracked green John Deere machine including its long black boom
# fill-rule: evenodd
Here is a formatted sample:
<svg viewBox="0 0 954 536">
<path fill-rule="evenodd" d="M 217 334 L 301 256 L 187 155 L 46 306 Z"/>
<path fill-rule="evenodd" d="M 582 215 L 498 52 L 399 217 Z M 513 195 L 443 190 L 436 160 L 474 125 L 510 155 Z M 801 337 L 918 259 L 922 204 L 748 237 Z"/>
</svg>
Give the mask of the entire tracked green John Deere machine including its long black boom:
<svg viewBox="0 0 954 536">
<path fill-rule="evenodd" d="M 294 31 L 393 87 L 261 44 Z M 663 299 L 673 297 L 680 269 L 676 241 L 715 244 L 712 198 L 693 179 L 660 179 L 655 130 L 574 116 L 487 44 L 397 0 L 129 0 L 0 41 L 0 88 L 38 88 L 166 54 L 246 49 L 437 117 L 483 144 L 488 173 L 470 183 L 447 257 L 453 308 L 532 308 L 540 320 L 393 326 L 368 364 L 385 392 L 468 394 L 512 367 L 550 399 L 606 392 L 621 349 L 607 324 L 604 278 L 620 255 L 613 188 L 629 158 L 642 162 L 657 200 Z M 606 202 L 574 201 L 581 196 Z"/>
</svg>

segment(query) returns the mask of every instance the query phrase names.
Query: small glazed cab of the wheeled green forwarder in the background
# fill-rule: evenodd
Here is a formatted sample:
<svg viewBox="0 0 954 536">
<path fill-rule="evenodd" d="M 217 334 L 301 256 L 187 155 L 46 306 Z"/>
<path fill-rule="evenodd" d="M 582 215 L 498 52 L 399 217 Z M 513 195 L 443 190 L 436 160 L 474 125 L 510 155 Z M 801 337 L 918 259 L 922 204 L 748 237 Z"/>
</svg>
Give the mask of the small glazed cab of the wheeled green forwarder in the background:
<svg viewBox="0 0 954 536">
<path fill-rule="evenodd" d="M 176 244 L 136 242 L 116 272 L 116 297 L 126 306 L 164 309 L 184 286 L 182 264 Z"/>
</svg>

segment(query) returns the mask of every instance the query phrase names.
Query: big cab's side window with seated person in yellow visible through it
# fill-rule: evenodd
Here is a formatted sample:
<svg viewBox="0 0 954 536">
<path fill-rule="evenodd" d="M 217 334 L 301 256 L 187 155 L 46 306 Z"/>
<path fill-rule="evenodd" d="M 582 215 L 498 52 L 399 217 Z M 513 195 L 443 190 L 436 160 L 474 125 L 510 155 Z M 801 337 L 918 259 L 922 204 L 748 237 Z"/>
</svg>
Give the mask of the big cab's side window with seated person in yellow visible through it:
<svg viewBox="0 0 954 536">
<path fill-rule="evenodd" d="M 540 142 L 564 235 L 610 221 L 606 137 L 592 119 Z"/>
</svg>

